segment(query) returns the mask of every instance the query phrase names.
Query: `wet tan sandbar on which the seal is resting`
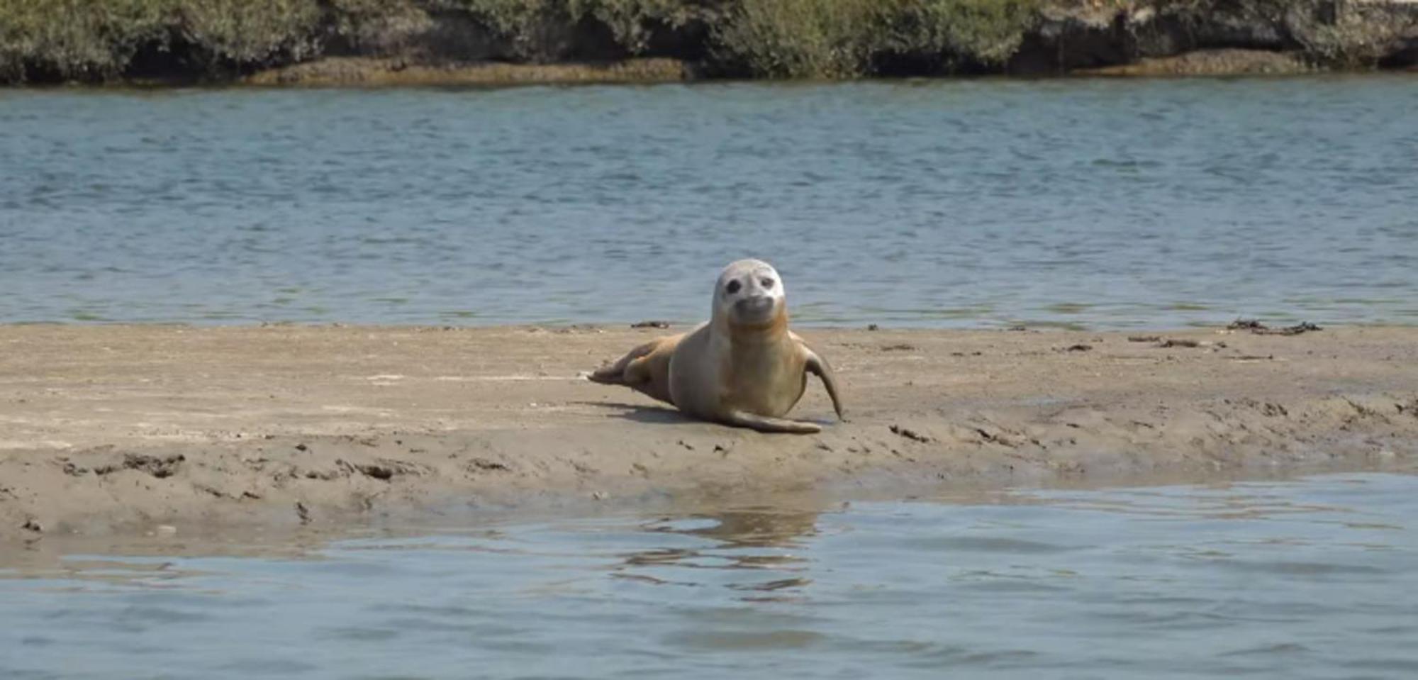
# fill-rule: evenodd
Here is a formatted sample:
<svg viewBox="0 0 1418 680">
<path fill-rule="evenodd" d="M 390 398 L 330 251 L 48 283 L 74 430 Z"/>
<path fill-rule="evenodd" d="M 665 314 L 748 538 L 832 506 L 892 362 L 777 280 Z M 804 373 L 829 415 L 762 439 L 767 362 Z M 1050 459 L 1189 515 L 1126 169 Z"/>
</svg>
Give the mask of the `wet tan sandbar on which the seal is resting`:
<svg viewBox="0 0 1418 680">
<path fill-rule="evenodd" d="M 675 330 L 0 326 L 0 541 L 1418 462 L 1414 327 L 798 329 L 820 435 L 581 377 Z"/>
</svg>

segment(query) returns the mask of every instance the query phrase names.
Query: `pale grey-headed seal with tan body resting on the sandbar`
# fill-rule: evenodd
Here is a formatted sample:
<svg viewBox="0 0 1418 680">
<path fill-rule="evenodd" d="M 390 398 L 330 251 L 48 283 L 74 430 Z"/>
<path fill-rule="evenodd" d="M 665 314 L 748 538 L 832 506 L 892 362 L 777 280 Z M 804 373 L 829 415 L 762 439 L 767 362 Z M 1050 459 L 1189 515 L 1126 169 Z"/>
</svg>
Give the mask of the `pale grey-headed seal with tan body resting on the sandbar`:
<svg viewBox="0 0 1418 680">
<path fill-rule="evenodd" d="M 845 419 L 831 366 L 788 330 L 783 278 L 767 262 L 740 259 L 719 275 L 709 322 L 641 344 L 590 380 L 630 387 L 706 421 L 810 434 L 821 425 L 783 418 L 803 398 L 808 373 L 822 378 Z"/>
</svg>

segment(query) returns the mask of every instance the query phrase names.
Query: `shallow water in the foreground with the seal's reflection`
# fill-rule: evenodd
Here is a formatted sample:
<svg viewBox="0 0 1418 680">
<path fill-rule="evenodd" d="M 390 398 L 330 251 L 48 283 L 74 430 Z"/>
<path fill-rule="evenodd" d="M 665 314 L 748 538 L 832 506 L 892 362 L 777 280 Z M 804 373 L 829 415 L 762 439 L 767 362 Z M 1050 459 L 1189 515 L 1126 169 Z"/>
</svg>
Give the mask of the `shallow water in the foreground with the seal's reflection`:
<svg viewBox="0 0 1418 680">
<path fill-rule="evenodd" d="M 0 571 L 0 676 L 1418 676 L 1418 477 L 737 509 Z"/>
</svg>

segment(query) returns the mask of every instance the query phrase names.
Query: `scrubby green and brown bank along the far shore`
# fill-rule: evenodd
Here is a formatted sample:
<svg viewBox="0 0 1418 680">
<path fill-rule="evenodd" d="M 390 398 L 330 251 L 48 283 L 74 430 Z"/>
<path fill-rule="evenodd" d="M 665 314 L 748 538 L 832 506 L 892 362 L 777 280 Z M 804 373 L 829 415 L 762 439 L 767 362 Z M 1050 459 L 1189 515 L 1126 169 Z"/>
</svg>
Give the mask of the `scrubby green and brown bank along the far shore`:
<svg viewBox="0 0 1418 680">
<path fill-rule="evenodd" d="M 718 75 L 1099 67 L 1204 48 L 1346 67 L 1418 57 L 1418 11 L 1360 0 L 0 0 L 0 82 L 230 79 L 322 57 L 664 57 Z M 1387 11 L 1387 14 L 1385 14 Z M 1395 13 L 1397 11 L 1397 13 Z M 1219 28 L 1217 28 L 1219 27 Z M 1166 40 L 1159 40 L 1159 35 Z M 1159 47 L 1160 45 L 1160 47 Z"/>
</svg>

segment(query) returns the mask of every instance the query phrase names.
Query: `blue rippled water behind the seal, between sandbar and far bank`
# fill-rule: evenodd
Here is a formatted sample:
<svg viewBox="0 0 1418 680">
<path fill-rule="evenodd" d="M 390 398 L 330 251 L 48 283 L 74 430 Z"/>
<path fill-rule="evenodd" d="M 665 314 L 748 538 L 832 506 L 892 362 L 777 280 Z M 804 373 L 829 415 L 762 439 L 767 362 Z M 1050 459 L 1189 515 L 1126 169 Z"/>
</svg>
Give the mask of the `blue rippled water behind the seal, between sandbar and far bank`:
<svg viewBox="0 0 1418 680">
<path fill-rule="evenodd" d="M 1418 78 L 0 91 L 0 322 L 1418 323 Z"/>
</svg>

